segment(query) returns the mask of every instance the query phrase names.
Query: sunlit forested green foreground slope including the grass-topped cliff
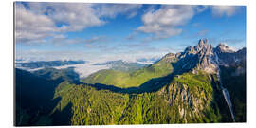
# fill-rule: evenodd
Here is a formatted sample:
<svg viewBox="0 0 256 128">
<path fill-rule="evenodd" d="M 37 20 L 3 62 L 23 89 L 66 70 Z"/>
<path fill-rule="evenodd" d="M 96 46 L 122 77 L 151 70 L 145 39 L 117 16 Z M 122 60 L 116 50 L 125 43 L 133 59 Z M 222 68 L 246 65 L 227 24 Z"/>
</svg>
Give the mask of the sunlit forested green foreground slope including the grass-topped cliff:
<svg viewBox="0 0 256 128">
<path fill-rule="evenodd" d="M 61 101 L 53 112 L 68 108 L 72 125 L 230 121 L 226 117 L 228 108 L 219 107 L 225 102 L 216 100 L 221 92 L 211 86 L 211 82 L 218 86 L 213 79 L 204 72 L 188 73 L 174 77 L 173 82 L 156 92 L 139 94 L 65 82 L 56 89 L 54 98 L 60 97 Z"/>
</svg>

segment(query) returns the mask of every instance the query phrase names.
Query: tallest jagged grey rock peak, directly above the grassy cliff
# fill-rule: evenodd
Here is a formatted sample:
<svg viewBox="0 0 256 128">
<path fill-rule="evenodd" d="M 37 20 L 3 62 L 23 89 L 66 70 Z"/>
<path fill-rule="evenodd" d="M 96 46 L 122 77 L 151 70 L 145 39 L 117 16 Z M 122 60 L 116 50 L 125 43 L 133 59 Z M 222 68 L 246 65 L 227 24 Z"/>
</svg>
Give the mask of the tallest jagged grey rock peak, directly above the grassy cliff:
<svg viewBox="0 0 256 128">
<path fill-rule="evenodd" d="M 203 70 L 216 73 L 217 66 L 214 62 L 213 46 L 208 45 L 208 40 L 200 40 L 196 46 L 188 46 L 184 52 L 179 53 L 178 62 L 175 64 L 179 73 L 192 71 L 196 73 Z"/>
</svg>

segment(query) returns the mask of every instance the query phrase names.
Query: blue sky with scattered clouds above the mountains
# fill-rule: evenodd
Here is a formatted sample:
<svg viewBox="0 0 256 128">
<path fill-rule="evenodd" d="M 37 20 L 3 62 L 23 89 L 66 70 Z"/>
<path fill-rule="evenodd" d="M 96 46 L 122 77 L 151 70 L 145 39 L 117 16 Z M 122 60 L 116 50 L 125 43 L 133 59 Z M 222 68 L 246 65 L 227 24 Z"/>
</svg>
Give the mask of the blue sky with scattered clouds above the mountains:
<svg viewBox="0 0 256 128">
<path fill-rule="evenodd" d="M 246 46 L 246 7 L 15 3 L 16 58 L 135 61 L 194 46 Z"/>
</svg>

